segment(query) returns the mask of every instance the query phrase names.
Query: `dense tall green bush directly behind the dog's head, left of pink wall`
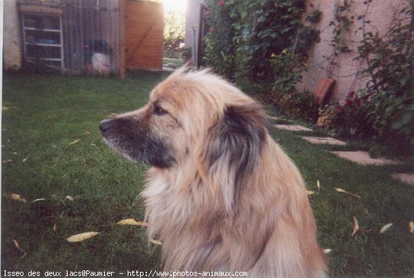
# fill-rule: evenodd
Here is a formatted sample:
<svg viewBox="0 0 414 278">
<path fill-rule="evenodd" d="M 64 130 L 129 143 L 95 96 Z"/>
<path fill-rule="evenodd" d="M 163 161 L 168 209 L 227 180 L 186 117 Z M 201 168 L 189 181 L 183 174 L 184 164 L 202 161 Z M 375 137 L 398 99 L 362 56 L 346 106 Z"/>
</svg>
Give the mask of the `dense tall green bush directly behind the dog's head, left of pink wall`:
<svg viewBox="0 0 414 278">
<path fill-rule="evenodd" d="M 305 0 L 207 0 L 204 62 L 235 81 L 273 81 L 270 56 L 286 50 L 304 56 L 319 32 L 301 21 Z"/>
</svg>

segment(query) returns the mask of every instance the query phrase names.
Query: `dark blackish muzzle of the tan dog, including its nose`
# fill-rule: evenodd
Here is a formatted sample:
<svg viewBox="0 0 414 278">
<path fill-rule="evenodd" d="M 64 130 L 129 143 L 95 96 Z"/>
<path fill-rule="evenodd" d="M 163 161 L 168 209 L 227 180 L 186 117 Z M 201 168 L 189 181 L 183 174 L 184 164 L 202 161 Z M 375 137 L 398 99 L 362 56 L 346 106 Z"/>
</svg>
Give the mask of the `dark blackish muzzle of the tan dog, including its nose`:
<svg viewBox="0 0 414 278">
<path fill-rule="evenodd" d="M 128 160 L 158 168 L 172 167 L 175 156 L 167 140 L 151 133 L 148 127 L 129 118 L 102 120 L 99 130 L 106 144 Z"/>
</svg>

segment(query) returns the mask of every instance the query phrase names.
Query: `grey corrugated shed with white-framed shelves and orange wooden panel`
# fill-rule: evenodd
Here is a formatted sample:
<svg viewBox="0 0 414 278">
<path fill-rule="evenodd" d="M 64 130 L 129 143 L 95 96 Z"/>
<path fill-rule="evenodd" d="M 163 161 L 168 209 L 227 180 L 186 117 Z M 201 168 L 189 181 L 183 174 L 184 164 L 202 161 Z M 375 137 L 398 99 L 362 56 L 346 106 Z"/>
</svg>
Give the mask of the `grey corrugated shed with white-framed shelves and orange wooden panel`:
<svg viewBox="0 0 414 278">
<path fill-rule="evenodd" d="M 121 76 L 126 69 L 162 68 L 161 3 L 17 0 L 16 5 L 23 66 L 68 74 Z"/>
</svg>

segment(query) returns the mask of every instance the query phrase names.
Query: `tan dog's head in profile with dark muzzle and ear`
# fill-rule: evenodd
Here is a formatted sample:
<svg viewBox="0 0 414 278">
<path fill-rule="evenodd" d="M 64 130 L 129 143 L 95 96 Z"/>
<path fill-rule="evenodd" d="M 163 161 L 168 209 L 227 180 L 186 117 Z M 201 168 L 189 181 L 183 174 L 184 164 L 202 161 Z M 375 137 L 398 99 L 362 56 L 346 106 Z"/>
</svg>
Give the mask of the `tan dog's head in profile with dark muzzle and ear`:
<svg viewBox="0 0 414 278">
<path fill-rule="evenodd" d="M 146 106 L 99 127 L 108 145 L 130 160 L 159 169 L 193 160 L 205 173 L 226 165 L 236 179 L 266 140 L 266 117 L 253 99 L 208 70 L 186 68 L 157 85 Z"/>
</svg>

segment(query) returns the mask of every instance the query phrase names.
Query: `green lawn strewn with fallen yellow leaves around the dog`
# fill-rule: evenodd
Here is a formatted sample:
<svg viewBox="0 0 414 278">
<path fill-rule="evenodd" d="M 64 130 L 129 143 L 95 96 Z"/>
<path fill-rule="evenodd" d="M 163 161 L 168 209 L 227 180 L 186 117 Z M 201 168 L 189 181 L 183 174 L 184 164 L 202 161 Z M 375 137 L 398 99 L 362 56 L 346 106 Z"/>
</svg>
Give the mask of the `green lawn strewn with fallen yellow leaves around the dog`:
<svg viewBox="0 0 414 278">
<path fill-rule="evenodd" d="M 111 113 L 144 105 L 163 77 L 137 72 L 124 80 L 3 78 L 2 270 L 161 269 L 160 248 L 148 245 L 144 228 L 116 225 L 126 218 L 142 220 L 139 192 L 146 167 L 112 153 L 98 124 Z M 358 166 L 290 131 L 271 133 L 315 191 L 309 197 L 319 242 L 332 249 L 330 276 L 413 277 L 414 235 L 408 222 L 414 220 L 414 188 L 391 178 L 395 171 L 414 172 L 412 165 Z M 13 200 L 12 193 L 27 202 Z M 32 202 L 39 198 L 46 200 Z M 359 231 L 351 236 L 354 216 Z M 388 223 L 393 226 L 380 233 Z M 87 231 L 100 234 L 84 242 L 66 241 Z"/>
</svg>

